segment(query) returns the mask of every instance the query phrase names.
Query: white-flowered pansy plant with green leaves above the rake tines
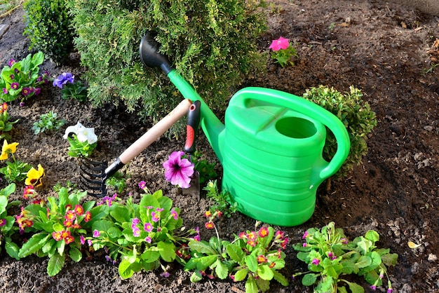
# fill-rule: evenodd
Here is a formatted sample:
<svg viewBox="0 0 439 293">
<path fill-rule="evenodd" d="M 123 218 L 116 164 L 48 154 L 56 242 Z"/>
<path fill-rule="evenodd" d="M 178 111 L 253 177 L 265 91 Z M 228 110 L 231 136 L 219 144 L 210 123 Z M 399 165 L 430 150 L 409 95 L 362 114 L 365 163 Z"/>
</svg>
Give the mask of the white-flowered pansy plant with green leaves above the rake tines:
<svg viewBox="0 0 439 293">
<path fill-rule="evenodd" d="M 69 141 L 69 156 L 88 158 L 97 147 L 95 128 L 86 128 L 81 123 L 67 127 L 63 136 Z"/>
</svg>

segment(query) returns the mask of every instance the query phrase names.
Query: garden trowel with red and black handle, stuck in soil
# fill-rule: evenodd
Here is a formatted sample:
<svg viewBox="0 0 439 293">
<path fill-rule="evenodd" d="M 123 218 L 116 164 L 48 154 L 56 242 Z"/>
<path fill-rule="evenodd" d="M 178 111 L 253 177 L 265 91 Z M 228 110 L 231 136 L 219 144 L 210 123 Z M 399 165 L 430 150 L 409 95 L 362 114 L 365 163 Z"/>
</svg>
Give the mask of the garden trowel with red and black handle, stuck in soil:
<svg viewBox="0 0 439 293">
<path fill-rule="evenodd" d="M 196 137 L 198 136 L 198 127 L 200 125 L 200 107 L 201 102 L 195 101 L 191 104 L 189 111 L 187 112 L 186 123 L 186 143 L 184 144 L 184 151 L 189 156 L 189 161 L 192 162 L 192 154 L 196 149 Z M 187 189 L 183 189 L 183 194 L 191 194 L 196 196 L 200 201 L 200 173 L 194 168 L 194 175 L 191 177 L 191 186 Z"/>
</svg>

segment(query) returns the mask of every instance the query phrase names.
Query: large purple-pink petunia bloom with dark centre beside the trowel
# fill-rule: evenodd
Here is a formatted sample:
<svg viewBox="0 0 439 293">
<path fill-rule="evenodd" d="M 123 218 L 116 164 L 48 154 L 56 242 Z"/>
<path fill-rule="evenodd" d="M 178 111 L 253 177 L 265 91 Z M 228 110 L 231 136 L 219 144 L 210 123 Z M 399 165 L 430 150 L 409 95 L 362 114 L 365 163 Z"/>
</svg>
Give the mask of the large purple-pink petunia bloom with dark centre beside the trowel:
<svg viewBox="0 0 439 293">
<path fill-rule="evenodd" d="M 165 178 L 173 185 L 187 189 L 190 186 L 191 176 L 194 175 L 194 164 L 187 158 L 182 158 L 184 151 L 173 151 L 168 161 L 163 163 Z"/>
</svg>

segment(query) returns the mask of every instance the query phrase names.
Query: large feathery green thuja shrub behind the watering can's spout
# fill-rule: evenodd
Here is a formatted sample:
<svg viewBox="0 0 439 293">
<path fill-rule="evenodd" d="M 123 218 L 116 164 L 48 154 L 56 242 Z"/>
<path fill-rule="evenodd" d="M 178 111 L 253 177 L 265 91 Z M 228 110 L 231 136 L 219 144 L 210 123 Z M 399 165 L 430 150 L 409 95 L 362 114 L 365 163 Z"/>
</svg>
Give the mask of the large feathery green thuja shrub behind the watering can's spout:
<svg viewBox="0 0 439 293">
<path fill-rule="evenodd" d="M 256 37 L 267 28 L 259 1 L 71 1 L 76 48 L 87 67 L 88 98 L 160 118 L 182 99 L 160 69 L 140 62 L 142 36 L 154 32 L 173 67 L 213 109 L 252 71 L 264 68 Z"/>
</svg>

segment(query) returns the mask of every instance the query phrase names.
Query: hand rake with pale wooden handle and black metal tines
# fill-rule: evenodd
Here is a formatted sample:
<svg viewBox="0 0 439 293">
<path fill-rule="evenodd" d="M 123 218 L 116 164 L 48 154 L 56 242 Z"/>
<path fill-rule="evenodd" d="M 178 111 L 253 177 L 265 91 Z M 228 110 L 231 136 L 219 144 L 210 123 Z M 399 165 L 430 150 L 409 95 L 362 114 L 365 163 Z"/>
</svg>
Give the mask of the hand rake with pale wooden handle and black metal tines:
<svg viewBox="0 0 439 293">
<path fill-rule="evenodd" d="M 97 193 L 91 193 L 95 196 L 105 196 L 107 194 L 107 186 L 105 181 L 114 175 L 118 170 L 123 168 L 126 163 L 133 160 L 135 156 L 140 154 L 144 149 L 149 147 L 158 137 L 161 137 L 172 125 L 182 118 L 189 107 L 191 107 L 191 100 L 185 99 L 173 109 L 167 116 L 158 121 L 151 129 L 149 129 L 142 137 L 137 139 L 133 144 L 128 147 L 123 153 L 116 158 L 111 165 L 107 167 L 107 162 L 97 161 L 83 161 L 83 165 L 80 166 L 83 173 L 81 173 L 81 183 L 86 189 L 91 191 L 97 191 Z"/>
</svg>

